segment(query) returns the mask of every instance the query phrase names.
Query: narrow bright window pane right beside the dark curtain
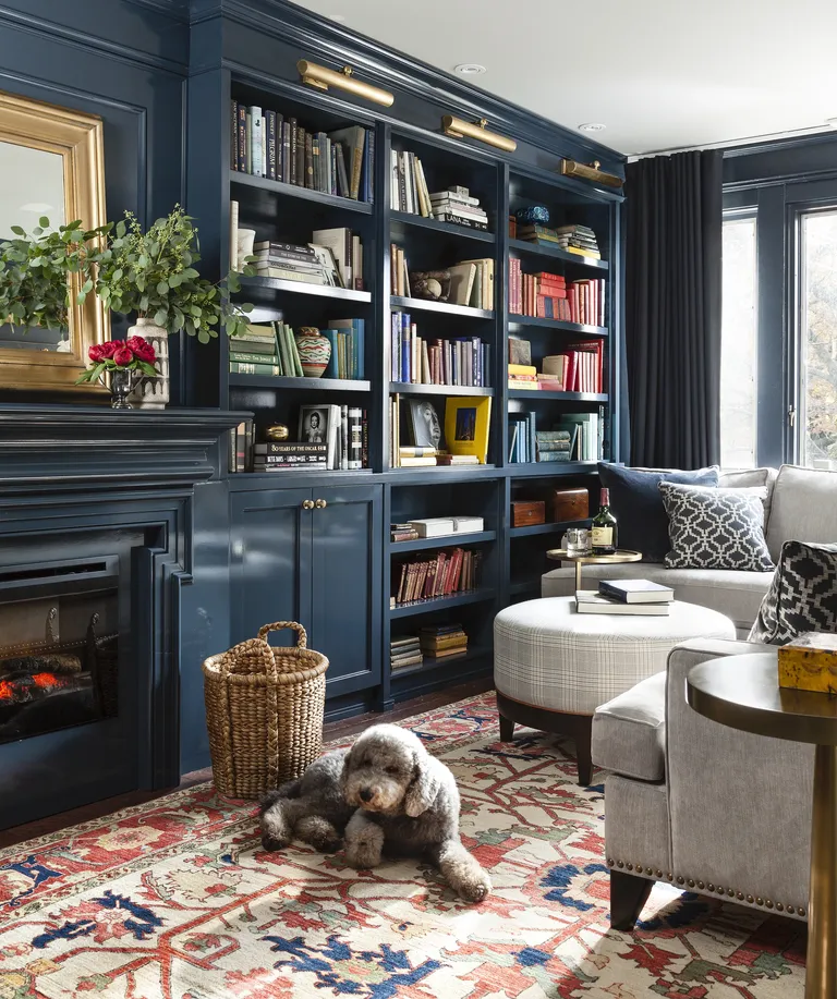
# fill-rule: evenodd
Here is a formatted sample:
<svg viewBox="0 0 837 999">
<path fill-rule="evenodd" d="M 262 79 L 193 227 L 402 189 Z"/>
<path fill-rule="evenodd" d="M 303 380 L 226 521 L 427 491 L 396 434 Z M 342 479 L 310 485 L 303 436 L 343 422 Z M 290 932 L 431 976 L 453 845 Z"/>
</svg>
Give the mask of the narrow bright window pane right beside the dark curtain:
<svg viewBox="0 0 837 999">
<path fill-rule="evenodd" d="M 755 216 L 724 219 L 724 312 L 720 333 L 720 463 L 755 466 Z M 835 287 L 837 296 L 837 285 Z"/>
</svg>

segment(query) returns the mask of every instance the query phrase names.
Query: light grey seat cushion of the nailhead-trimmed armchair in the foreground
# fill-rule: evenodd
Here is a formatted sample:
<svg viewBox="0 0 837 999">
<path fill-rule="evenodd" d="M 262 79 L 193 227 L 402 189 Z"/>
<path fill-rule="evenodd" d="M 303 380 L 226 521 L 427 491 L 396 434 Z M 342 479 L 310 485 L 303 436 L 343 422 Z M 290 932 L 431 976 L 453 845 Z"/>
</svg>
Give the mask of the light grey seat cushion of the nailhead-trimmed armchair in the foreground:
<svg viewBox="0 0 837 999">
<path fill-rule="evenodd" d="M 596 708 L 592 750 L 597 767 L 636 780 L 663 780 L 665 743 L 665 671 Z"/>
</svg>

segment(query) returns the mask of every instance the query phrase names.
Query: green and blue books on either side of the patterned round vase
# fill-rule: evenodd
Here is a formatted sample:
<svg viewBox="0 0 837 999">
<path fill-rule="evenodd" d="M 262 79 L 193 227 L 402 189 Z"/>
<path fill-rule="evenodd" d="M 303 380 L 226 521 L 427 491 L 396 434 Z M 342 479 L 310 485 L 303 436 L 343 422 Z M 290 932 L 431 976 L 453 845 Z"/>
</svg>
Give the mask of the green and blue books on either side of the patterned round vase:
<svg viewBox="0 0 837 999">
<path fill-rule="evenodd" d="M 328 329 L 319 332 L 331 344 L 331 356 L 323 377 L 363 378 L 364 320 L 331 319 Z M 251 322 L 245 333 L 230 340 L 230 373 L 304 378 L 293 329 L 286 322 Z"/>
</svg>

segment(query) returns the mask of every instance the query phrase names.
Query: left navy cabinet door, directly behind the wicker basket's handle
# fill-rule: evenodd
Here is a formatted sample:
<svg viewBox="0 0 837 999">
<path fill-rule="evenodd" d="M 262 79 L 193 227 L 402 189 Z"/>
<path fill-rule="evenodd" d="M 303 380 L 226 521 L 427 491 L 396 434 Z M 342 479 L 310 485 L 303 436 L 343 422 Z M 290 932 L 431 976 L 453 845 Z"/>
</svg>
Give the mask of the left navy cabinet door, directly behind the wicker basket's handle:
<svg viewBox="0 0 837 999">
<path fill-rule="evenodd" d="M 304 510 L 311 489 L 265 489 L 230 497 L 232 643 L 254 638 L 263 624 L 311 620 L 311 531 Z M 270 639 L 291 645 L 291 631 Z"/>
</svg>

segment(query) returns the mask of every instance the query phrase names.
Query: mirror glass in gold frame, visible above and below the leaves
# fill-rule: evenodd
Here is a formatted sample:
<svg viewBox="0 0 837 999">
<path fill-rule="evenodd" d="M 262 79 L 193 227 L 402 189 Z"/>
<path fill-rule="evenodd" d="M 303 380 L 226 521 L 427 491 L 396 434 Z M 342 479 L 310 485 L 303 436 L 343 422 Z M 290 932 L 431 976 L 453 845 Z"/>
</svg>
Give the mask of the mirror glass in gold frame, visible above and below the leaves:
<svg viewBox="0 0 837 999">
<path fill-rule="evenodd" d="M 63 226 L 64 160 L 58 153 L 0 142 L 0 240 L 11 239 L 12 226 L 26 232 L 47 216 Z M 69 351 L 66 331 L 0 326 L 0 349 Z"/>
</svg>

